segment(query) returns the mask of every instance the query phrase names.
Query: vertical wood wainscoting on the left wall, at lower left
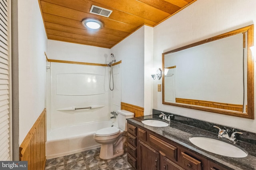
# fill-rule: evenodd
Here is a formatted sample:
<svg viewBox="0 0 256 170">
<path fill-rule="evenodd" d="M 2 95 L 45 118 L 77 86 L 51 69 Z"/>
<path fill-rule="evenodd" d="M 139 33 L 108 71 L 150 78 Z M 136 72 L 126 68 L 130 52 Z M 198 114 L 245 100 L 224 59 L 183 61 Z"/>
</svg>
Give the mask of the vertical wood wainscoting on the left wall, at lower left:
<svg viewBox="0 0 256 170">
<path fill-rule="evenodd" d="M 44 170 L 46 163 L 46 109 L 20 145 L 20 161 L 28 161 L 28 170 Z"/>
</svg>

